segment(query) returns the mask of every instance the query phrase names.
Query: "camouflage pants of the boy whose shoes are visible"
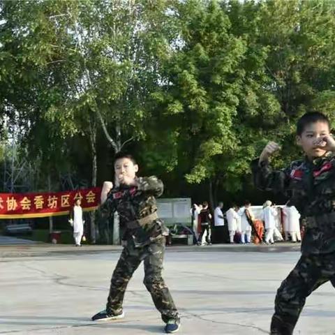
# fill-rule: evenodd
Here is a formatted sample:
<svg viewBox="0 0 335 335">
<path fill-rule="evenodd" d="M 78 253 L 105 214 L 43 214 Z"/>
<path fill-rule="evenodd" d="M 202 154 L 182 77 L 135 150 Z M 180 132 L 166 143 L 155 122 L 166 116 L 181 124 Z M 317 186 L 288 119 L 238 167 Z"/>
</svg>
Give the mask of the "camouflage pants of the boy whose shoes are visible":
<svg viewBox="0 0 335 335">
<path fill-rule="evenodd" d="M 110 283 L 110 294 L 107 298 L 106 311 L 120 313 L 124 301 L 124 293 L 134 271 L 144 260 L 144 285 L 164 322 L 179 320 L 179 315 L 168 287 L 162 278 L 165 237 L 141 248 L 132 245 L 124 247 L 117 267 L 115 267 Z"/>
</svg>

